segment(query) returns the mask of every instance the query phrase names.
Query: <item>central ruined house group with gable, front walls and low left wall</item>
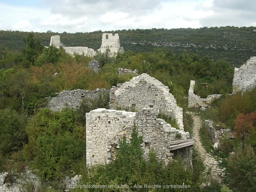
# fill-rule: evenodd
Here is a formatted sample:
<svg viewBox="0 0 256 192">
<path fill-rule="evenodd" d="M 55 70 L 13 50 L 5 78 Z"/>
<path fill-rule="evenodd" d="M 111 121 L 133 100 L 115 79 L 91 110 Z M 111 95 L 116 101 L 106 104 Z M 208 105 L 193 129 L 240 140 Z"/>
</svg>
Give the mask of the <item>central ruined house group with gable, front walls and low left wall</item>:
<svg viewBox="0 0 256 192">
<path fill-rule="evenodd" d="M 110 95 L 109 110 L 95 109 L 86 113 L 86 163 L 88 166 L 107 163 L 115 159 L 120 139 L 126 135 L 131 138 L 134 126 L 143 136 L 144 158 L 153 149 L 159 160 L 168 163 L 170 159 L 181 155 L 192 166 L 191 155 L 194 140 L 184 132 L 183 112 L 169 92 L 169 88 L 160 81 L 141 74 L 124 84 L 117 84 L 111 90 L 64 91 L 51 98 L 48 106 L 51 110 L 61 110 L 66 106 L 76 108 L 82 99 L 95 98 L 99 94 Z M 136 112 L 116 110 L 117 108 Z M 164 120 L 156 118 L 162 112 L 174 118 L 179 128 L 173 128 Z"/>
</svg>

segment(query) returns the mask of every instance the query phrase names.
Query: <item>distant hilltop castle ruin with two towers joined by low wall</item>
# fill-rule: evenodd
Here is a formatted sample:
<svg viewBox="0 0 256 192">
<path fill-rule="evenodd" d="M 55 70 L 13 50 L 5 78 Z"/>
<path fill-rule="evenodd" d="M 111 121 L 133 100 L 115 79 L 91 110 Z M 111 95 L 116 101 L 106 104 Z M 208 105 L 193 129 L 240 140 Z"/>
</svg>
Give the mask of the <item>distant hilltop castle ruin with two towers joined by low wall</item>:
<svg viewBox="0 0 256 192">
<path fill-rule="evenodd" d="M 53 45 L 56 48 L 60 48 L 62 46 L 64 50 L 68 53 L 73 55 L 76 54 L 84 54 L 86 56 L 94 56 L 96 51 L 94 49 L 88 47 L 66 47 L 62 42 L 60 42 L 60 36 L 55 35 L 51 37 L 50 46 Z M 107 48 L 109 48 L 110 52 L 108 53 L 109 56 L 115 56 L 118 52 L 123 53 L 124 49 L 120 46 L 120 40 L 118 34 L 112 35 L 112 33 L 103 33 L 102 34 L 102 44 L 98 49 L 99 52 L 104 53 Z"/>
</svg>

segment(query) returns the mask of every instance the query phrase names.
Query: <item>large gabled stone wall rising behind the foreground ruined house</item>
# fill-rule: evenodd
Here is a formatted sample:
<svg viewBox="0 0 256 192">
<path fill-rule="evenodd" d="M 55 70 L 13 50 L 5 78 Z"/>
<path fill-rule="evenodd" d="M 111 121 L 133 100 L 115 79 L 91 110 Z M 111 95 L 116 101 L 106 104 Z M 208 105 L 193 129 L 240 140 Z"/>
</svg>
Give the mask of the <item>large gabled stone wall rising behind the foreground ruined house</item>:
<svg viewBox="0 0 256 192">
<path fill-rule="evenodd" d="M 171 115 L 175 118 L 180 130 L 184 130 L 182 108 L 177 106 L 174 96 L 169 91 L 169 88 L 160 81 L 148 74 L 141 74 L 129 82 L 112 87 L 109 108 L 142 110 L 150 107 L 156 109 L 157 113 L 161 111 Z"/>
</svg>

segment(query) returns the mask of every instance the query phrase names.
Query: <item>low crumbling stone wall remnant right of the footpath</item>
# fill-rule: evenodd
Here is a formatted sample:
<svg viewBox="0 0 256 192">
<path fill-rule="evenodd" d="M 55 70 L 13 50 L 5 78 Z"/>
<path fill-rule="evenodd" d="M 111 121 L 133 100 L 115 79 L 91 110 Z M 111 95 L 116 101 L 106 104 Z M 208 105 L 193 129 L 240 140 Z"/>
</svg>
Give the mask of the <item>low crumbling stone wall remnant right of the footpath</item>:
<svg viewBox="0 0 256 192">
<path fill-rule="evenodd" d="M 204 120 L 205 128 L 208 131 L 208 134 L 212 138 L 214 143 L 214 150 L 218 150 L 220 147 L 220 137 L 228 136 L 229 138 L 234 138 L 233 131 L 231 129 L 220 129 L 217 130 L 214 127 L 214 122 L 212 120 Z"/>
</svg>

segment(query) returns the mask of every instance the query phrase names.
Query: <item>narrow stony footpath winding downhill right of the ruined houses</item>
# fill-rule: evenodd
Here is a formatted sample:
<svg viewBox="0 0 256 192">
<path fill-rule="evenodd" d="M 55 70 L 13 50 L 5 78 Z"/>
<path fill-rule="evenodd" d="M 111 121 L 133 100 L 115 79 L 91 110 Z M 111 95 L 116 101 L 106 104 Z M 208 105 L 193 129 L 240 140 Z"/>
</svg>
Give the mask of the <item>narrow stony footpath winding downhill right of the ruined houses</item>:
<svg viewBox="0 0 256 192">
<path fill-rule="evenodd" d="M 190 112 L 189 114 L 191 114 L 194 120 L 194 125 L 193 125 L 193 138 L 195 139 L 194 147 L 198 150 L 198 152 L 202 156 L 202 159 L 204 160 L 204 166 L 206 166 L 205 172 L 208 172 L 211 170 L 212 177 L 215 180 L 221 182 L 222 176 L 224 176 L 225 169 L 220 168 L 218 166 L 219 162 L 217 162 L 211 154 L 208 154 L 204 149 L 204 147 L 202 146 L 201 138 L 199 136 L 199 130 L 200 130 L 200 127 L 202 126 L 202 120 L 199 116 L 196 116 L 193 112 Z"/>
</svg>

